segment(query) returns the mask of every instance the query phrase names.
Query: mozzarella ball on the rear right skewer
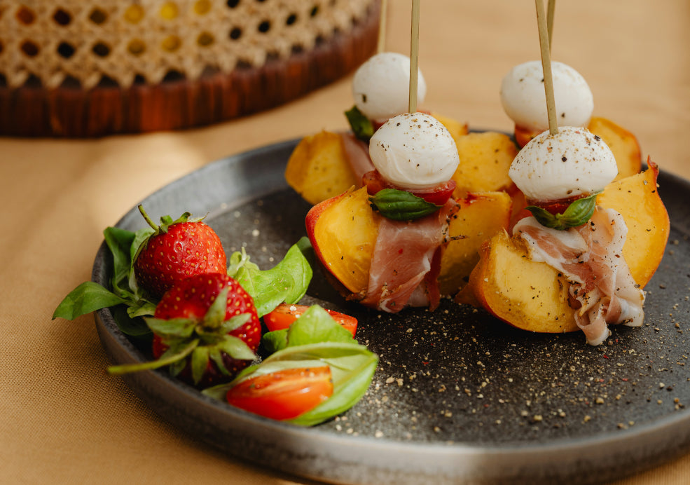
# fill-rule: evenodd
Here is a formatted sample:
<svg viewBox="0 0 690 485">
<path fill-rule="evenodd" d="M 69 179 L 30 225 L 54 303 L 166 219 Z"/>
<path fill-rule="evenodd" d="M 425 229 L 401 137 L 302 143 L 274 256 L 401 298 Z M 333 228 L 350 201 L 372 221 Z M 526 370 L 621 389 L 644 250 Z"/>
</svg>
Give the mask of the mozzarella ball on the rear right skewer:
<svg viewBox="0 0 690 485">
<path fill-rule="evenodd" d="M 584 77 L 563 62 L 551 62 L 553 97 L 559 126 L 586 126 L 594 100 Z M 544 71 L 541 61 L 513 67 L 501 83 L 501 103 L 520 128 L 541 132 L 548 128 Z"/>
</svg>

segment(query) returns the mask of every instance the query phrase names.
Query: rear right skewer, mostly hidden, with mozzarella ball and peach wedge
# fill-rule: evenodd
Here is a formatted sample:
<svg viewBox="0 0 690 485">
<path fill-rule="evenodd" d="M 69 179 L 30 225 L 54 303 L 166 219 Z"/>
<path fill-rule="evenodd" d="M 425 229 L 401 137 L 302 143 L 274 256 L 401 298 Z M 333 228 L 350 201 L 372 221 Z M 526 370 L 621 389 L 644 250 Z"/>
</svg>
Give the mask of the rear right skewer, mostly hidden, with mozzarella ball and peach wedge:
<svg viewBox="0 0 690 485">
<path fill-rule="evenodd" d="M 592 116 L 593 95 L 585 78 L 556 61 L 551 62 L 551 74 L 558 125 L 585 127 L 602 138 L 614 153 L 618 178 L 640 172 L 642 156 L 635 135 L 607 118 Z M 501 83 L 501 103 L 515 123 L 515 139 L 520 147 L 548 129 L 541 61 L 518 64 L 506 74 Z"/>
</svg>

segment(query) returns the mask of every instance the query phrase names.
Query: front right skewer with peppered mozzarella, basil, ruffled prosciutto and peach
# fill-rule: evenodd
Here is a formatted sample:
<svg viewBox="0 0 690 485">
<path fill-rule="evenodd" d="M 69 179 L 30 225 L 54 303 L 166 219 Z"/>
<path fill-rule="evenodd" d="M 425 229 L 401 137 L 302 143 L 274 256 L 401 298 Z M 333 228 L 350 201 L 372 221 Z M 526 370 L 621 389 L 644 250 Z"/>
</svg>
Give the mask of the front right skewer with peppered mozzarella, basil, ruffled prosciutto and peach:
<svg viewBox="0 0 690 485">
<path fill-rule="evenodd" d="M 501 232 L 485 242 L 456 300 L 474 297 L 521 329 L 581 329 L 592 345 L 607 339 L 608 325 L 641 325 L 642 287 L 669 231 L 658 168 L 648 163 L 646 172 L 612 182 L 614 155 L 585 128 L 532 139 L 510 170 L 532 215 L 515 224 L 512 236 Z"/>
</svg>

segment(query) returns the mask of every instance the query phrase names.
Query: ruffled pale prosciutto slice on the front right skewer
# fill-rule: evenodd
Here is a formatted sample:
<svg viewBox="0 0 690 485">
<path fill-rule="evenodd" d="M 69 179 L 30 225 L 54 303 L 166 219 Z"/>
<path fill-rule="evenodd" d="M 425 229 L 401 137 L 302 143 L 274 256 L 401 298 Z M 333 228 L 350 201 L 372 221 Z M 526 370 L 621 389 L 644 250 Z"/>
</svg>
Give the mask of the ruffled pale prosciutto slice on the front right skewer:
<svg viewBox="0 0 690 485">
<path fill-rule="evenodd" d="M 587 342 L 598 346 L 609 324 L 637 327 L 644 320 L 644 291 L 630 275 L 623 258 L 628 228 L 621 214 L 597 207 L 590 221 L 567 231 L 541 226 L 534 217 L 513 228 L 530 248 L 534 261 L 544 261 L 570 280 L 570 306 Z"/>
</svg>

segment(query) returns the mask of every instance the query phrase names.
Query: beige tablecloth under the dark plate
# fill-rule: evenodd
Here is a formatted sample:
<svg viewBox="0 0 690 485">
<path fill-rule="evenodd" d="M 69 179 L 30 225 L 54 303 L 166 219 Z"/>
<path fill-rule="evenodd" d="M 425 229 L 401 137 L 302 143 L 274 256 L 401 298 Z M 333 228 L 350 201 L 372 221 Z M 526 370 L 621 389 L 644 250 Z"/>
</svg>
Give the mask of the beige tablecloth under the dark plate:
<svg viewBox="0 0 690 485">
<path fill-rule="evenodd" d="M 389 0 L 387 18 L 387 49 L 409 52 L 410 2 Z M 645 156 L 686 178 L 689 45 L 686 0 L 558 2 L 553 59 L 586 77 L 595 114 L 633 131 Z M 538 57 L 531 1 L 422 2 L 428 109 L 474 128 L 511 130 L 500 80 Z M 165 423 L 120 378 L 104 374 L 109 362 L 91 315 L 50 316 L 90 278 L 102 230 L 139 200 L 223 156 L 345 128 L 350 106 L 345 78 L 199 130 L 85 141 L 0 137 L 0 482 L 304 483 L 222 456 Z M 687 477 L 690 454 L 620 483 Z"/>
</svg>

